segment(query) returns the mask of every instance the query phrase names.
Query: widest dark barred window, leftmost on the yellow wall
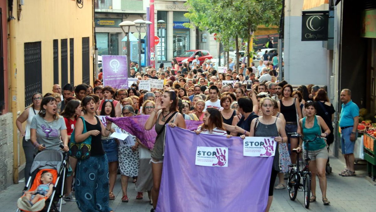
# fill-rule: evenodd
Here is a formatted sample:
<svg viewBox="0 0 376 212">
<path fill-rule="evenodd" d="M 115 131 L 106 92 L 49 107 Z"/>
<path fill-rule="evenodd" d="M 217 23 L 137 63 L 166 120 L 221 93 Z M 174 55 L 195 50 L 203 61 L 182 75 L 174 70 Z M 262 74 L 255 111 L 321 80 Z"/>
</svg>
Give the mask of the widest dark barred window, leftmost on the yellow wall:
<svg viewBox="0 0 376 212">
<path fill-rule="evenodd" d="M 32 103 L 34 93 L 42 93 L 41 46 L 41 41 L 24 43 L 25 108 Z"/>
</svg>

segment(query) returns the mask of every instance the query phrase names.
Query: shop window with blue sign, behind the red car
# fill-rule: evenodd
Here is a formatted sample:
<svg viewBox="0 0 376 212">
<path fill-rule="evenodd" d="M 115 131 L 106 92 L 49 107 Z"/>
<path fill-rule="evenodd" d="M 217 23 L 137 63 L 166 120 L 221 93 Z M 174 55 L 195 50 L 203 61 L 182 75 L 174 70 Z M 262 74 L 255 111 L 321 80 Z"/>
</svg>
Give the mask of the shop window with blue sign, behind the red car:
<svg viewBox="0 0 376 212">
<path fill-rule="evenodd" d="M 173 14 L 173 57 L 177 57 L 190 50 L 190 29 L 185 28 L 183 23 L 189 23 L 184 17 L 185 12 L 174 12 Z"/>
</svg>

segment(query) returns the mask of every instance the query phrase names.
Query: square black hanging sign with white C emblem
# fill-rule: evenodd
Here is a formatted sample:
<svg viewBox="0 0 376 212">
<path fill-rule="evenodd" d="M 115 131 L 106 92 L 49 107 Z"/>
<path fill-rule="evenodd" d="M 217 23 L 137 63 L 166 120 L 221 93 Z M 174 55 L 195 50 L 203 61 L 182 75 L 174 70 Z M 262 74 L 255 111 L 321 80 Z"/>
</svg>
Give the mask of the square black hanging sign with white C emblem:
<svg viewBox="0 0 376 212">
<path fill-rule="evenodd" d="M 320 41 L 328 39 L 327 11 L 303 11 L 302 41 Z"/>
</svg>

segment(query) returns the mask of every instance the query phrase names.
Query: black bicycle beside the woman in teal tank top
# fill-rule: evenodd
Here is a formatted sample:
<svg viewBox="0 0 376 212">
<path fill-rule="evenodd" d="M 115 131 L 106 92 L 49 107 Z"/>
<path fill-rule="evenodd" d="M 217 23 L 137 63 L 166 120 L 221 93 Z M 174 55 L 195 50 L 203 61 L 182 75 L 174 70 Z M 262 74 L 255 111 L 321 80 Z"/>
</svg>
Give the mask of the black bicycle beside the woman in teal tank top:
<svg viewBox="0 0 376 212">
<path fill-rule="evenodd" d="M 297 133 L 288 133 L 291 135 L 291 137 L 301 138 L 304 141 L 304 145 L 307 146 L 306 149 L 306 159 L 305 166 L 303 166 L 302 161 L 302 167 L 303 169 L 299 169 L 299 152 L 297 152 L 296 149 L 293 149 L 293 152 L 297 154 L 296 156 L 296 164 L 291 164 L 289 167 L 291 169 L 288 172 L 288 178 L 287 178 L 287 190 L 289 192 L 290 200 L 294 201 L 296 199 L 296 195 L 298 192 L 298 189 L 301 189 L 304 192 L 304 206 L 305 208 L 309 208 L 309 198 L 311 196 L 311 179 L 312 174 L 308 170 L 309 161 L 311 158 L 308 157 L 308 147 L 309 143 L 314 141 L 316 138 L 321 138 L 320 135 L 317 135 L 313 140 L 305 140 L 302 135 L 299 135 Z M 325 139 L 326 138 L 322 138 Z M 303 179 L 303 183 L 300 183 L 300 179 Z"/>
</svg>

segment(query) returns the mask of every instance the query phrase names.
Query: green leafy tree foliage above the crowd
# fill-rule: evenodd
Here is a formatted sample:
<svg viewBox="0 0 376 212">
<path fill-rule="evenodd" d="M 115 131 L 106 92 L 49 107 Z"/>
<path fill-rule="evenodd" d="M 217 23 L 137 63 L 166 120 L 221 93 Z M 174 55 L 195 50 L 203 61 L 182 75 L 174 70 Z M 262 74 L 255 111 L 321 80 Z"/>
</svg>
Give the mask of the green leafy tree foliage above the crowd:
<svg viewBox="0 0 376 212">
<path fill-rule="evenodd" d="M 233 45 L 233 38 L 249 40 L 258 25 L 279 25 L 280 0 L 187 0 L 184 16 L 200 30 L 217 33 L 225 49 Z"/>
</svg>

